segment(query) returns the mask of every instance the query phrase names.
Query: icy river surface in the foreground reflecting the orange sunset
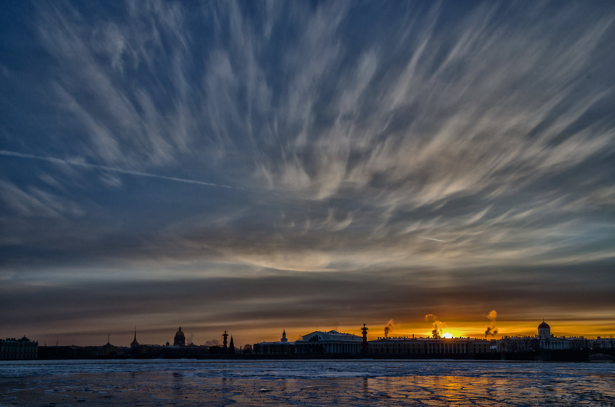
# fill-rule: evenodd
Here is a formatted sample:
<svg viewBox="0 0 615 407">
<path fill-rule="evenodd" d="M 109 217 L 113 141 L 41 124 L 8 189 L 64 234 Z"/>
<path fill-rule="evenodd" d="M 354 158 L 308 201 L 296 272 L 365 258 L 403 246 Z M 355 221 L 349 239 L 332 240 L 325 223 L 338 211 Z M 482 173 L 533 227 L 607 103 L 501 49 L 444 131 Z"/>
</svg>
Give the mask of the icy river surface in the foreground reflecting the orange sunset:
<svg viewBox="0 0 615 407">
<path fill-rule="evenodd" d="M 0 362 L 0 406 L 615 405 L 613 363 Z"/>
</svg>

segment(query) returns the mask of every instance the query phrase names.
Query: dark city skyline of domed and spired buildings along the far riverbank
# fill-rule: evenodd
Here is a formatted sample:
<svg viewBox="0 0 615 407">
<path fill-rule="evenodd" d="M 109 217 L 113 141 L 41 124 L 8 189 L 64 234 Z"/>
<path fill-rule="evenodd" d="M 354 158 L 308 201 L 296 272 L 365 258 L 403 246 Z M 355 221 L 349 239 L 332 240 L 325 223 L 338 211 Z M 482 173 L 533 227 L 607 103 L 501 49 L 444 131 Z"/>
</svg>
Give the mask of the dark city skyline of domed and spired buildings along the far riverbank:
<svg viewBox="0 0 615 407">
<path fill-rule="evenodd" d="M 368 341 L 368 328 L 360 328 L 362 336 L 340 333 L 336 330 L 313 331 L 297 341 L 288 341 L 286 330 L 276 342 L 260 342 L 253 345 L 256 357 L 276 355 L 282 358 L 313 358 L 325 355 L 332 358 L 456 358 L 456 359 L 502 359 L 502 360 L 587 360 L 590 357 L 613 358 L 613 338 L 597 339 L 583 336 L 555 336 L 548 323 L 542 320 L 538 334 L 531 336 L 503 336 L 501 339 L 485 338 L 432 338 L 432 337 L 384 337 Z M 248 352 L 236 350 L 234 338 L 224 331 L 223 346 L 186 345 L 181 326 L 173 345 L 145 345 L 137 341 L 135 328 L 130 347 L 114 346 L 108 341 L 103 346 L 38 346 L 25 336 L 21 339 L 0 340 L 0 360 L 33 358 L 91 359 L 91 358 L 232 358 L 244 357 Z M 230 343 L 227 342 L 231 336 Z"/>
</svg>

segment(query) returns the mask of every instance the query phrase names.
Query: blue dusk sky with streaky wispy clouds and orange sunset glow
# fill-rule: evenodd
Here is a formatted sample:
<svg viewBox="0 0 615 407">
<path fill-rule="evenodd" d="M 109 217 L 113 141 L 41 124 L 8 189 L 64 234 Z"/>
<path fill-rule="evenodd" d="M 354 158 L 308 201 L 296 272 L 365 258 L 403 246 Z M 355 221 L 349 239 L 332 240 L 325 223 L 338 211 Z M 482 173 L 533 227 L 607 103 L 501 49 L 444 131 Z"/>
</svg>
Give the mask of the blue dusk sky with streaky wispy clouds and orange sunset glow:
<svg viewBox="0 0 615 407">
<path fill-rule="evenodd" d="M 0 336 L 615 334 L 615 4 L 9 2 Z"/>
</svg>

